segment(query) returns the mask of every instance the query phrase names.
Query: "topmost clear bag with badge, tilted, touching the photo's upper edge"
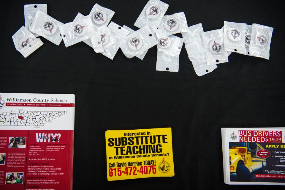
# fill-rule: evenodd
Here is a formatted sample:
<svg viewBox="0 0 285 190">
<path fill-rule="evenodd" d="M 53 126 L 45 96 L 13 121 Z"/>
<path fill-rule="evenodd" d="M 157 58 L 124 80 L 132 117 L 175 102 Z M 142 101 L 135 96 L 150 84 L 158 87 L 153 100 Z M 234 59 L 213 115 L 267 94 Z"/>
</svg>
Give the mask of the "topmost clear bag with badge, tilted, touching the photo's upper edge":
<svg viewBox="0 0 285 190">
<path fill-rule="evenodd" d="M 148 26 L 151 30 L 151 34 L 153 34 L 159 26 L 168 7 L 168 4 L 159 0 L 148 1 L 134 23 L 134 26 L 137 26 L 138 28 Z"/>
</svg>

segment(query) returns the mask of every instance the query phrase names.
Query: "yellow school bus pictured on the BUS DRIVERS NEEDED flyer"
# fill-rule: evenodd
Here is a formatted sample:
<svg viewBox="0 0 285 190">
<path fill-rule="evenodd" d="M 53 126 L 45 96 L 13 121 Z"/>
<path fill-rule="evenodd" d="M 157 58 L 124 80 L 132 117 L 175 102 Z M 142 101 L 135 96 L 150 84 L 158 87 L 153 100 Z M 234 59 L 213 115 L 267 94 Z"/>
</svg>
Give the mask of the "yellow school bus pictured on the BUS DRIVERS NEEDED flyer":
<svg viewBox="0 0 285 190">
<path fill-rule="evenodd" d="M 266 158 L 256 156 L 263 147 L 255 142 L 229 142 L 231 181 L 251 181 L 251 173 L 264 173 Z"/>
</svg>

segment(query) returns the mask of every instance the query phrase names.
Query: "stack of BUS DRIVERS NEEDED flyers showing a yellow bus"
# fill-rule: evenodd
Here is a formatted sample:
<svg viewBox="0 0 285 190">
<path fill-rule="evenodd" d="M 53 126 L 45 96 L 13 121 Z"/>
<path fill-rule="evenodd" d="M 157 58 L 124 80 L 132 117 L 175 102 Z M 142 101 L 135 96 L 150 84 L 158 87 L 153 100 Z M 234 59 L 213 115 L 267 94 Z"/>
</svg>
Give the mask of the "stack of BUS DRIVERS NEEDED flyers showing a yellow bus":
<svg viewBox="0 0 285 190">
<path fill-rule="evenodd" d="M 222 128 L 224 182 L 285 185 L 285 128 Z"/>
</svg>

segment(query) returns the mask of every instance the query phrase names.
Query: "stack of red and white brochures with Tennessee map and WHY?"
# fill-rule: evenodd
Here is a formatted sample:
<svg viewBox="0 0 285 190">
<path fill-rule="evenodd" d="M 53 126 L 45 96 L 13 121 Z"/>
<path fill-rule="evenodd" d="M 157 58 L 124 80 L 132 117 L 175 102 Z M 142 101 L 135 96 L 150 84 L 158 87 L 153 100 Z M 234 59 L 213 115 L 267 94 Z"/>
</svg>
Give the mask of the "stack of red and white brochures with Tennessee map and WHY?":
<svg viewBox="0 0 285 190">
<path fill-rule="evenodd" d="M 0 92 L 0 189 L 71 190 L 75 95 Z"/>
</svg>

